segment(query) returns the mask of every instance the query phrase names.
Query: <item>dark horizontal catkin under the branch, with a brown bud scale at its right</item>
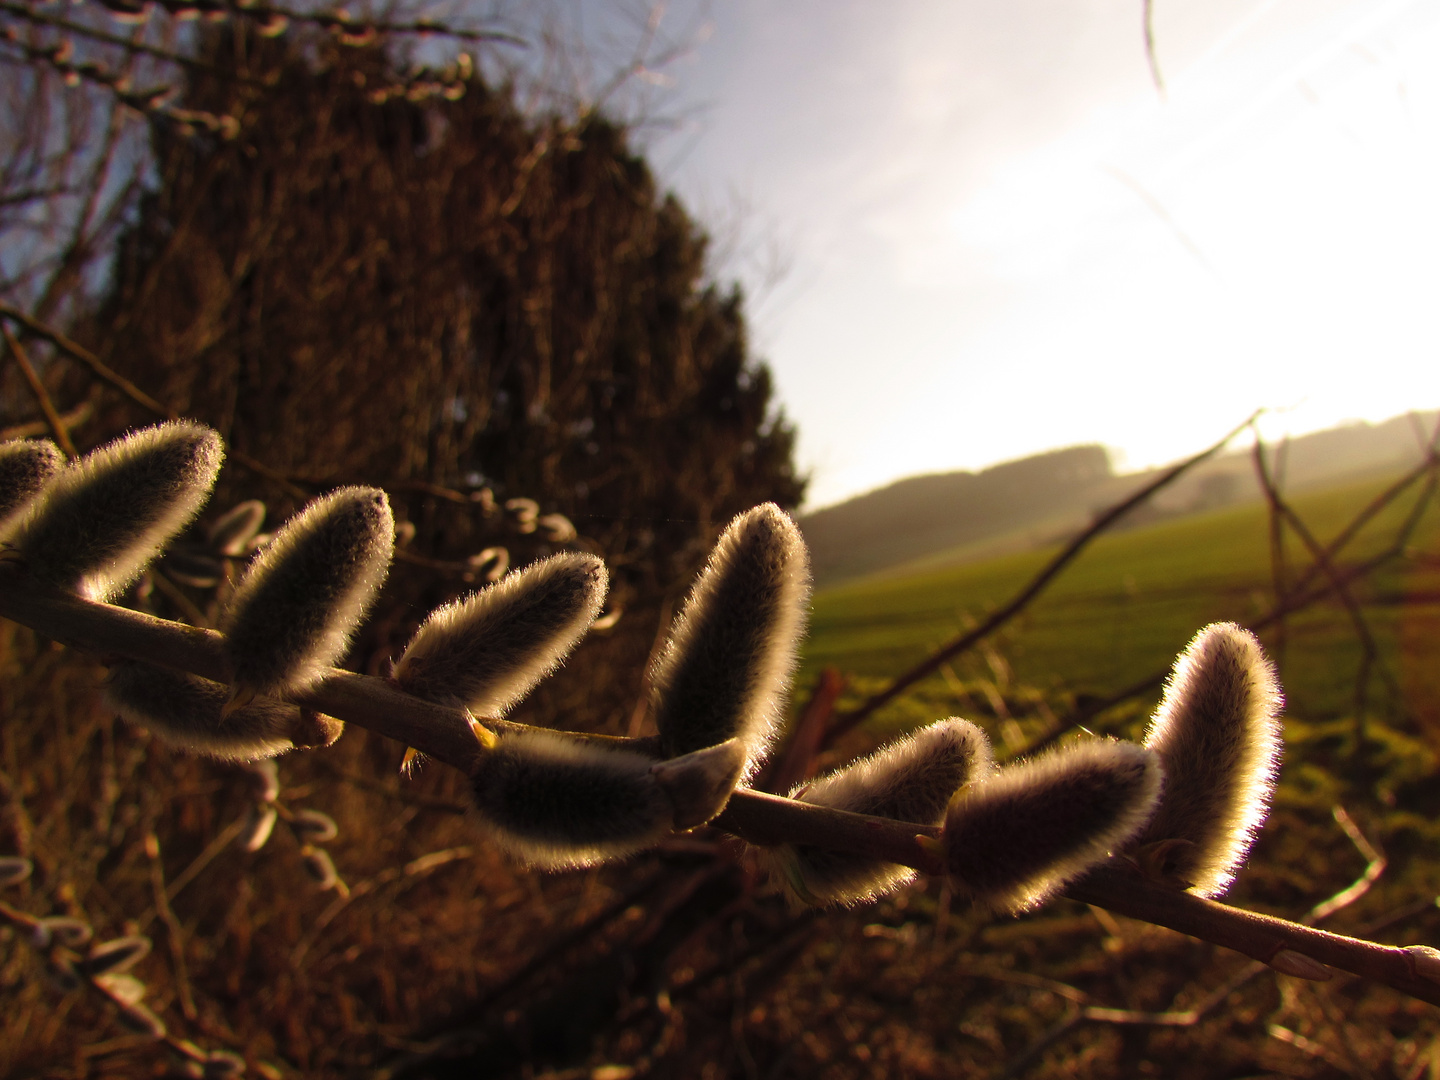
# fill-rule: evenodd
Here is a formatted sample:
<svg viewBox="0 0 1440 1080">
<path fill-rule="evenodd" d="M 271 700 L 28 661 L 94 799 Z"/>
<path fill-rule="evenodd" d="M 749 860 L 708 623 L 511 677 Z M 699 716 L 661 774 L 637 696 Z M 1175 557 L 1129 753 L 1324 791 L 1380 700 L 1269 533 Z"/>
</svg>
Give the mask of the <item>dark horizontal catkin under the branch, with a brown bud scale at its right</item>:
<svg viewBox="0 0 1440 1080">
<path fill-rule="evenodd" d="M 674 828 L 655 762 L 559 732 L 500 736 L 471 773 L 475 814 L 495 841 L 540 867 L 586 867 L 647 848 Z"/>
</svg>

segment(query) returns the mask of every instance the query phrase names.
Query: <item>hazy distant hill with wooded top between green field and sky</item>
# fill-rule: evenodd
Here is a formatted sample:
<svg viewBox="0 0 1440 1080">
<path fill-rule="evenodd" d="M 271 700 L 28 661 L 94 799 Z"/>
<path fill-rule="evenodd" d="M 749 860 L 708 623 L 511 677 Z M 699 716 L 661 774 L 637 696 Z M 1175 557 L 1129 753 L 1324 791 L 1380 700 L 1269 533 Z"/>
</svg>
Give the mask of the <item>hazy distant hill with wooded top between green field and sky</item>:
<svg viewBox="0 0 1440 1080">
<path fill-rule="evenodd" d="M 1331 484 L 1417 462 L 1436 413 L 1351 423 L 1292 439 L 1277 462 L 1284 490 Z M 953 563 L 1054 541 L 1081 528 L 1094 511 L 1149 482 L 1159 469 L 1117 475 L 1103 446 L 1070 446 L 981 472 L 937 472 L 899 480 L 801 518 L 815 583 L 923 560 Z M 1166 488 L 1128 521 L 1210 510 L 1259 498 L 1250 451 L 1207 462 Z"/>
</svg>

